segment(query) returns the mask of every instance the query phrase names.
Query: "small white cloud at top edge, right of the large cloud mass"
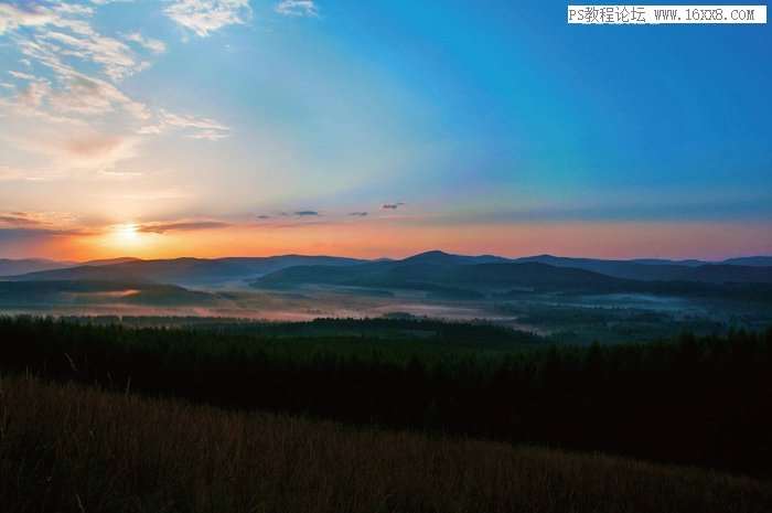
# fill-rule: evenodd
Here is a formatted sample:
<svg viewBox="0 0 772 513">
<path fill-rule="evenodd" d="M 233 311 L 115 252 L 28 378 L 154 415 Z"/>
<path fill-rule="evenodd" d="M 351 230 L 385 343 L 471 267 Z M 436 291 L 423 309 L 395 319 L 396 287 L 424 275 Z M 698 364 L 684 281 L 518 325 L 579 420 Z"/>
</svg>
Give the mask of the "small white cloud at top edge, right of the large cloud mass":
<svg viewBox="0 0 772 513">
<path fill-rule="evenodd" d="M 251 19 L 249 0 L 173 0 L 164 12 L 200 38 Z"/>
</svg>

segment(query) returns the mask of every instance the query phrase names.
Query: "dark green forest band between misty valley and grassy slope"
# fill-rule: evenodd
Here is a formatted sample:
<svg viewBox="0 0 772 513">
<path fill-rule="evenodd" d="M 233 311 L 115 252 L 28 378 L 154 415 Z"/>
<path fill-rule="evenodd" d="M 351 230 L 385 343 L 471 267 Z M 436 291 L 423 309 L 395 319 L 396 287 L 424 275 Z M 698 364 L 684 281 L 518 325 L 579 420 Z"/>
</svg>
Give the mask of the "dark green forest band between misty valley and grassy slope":
<svg viewBox="0 0 772 513">
<path fill-rule="evenodd" d="M 7 317 L 0 340 L 1 372 L 46 382 L 772 475 L 772 330 L 572 346 L 406 319 L 288 331 Z"/>
</svg>

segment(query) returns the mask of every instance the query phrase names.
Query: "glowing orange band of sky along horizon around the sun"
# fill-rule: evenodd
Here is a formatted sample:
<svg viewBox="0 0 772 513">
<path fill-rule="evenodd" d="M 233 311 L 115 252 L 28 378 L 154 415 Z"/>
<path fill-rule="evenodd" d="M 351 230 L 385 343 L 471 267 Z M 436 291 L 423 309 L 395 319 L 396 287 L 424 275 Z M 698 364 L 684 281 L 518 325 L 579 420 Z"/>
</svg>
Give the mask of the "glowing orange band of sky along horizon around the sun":
<svg viewBox="0 0 772 513">
<path fill-rule="evenodd" d="M 737 247 L 728 253 L 727 247 Z M 732 223 L 555 223 L 405 225 L 330 223 L 294 227 L 239 226 L 140 232 L 133 223 L 87 235 L 61 235 L 24 253 L 0 257 L 56 260 L 143 259 L 287 254 L 403 258 L 441 249 L 508 257 L 553 254 L 593 258 L 701 258 L 720 260 L 772 253 L 764 225 Z M 2 247 L 0 246 L 0 252 Z"/>
</svg>

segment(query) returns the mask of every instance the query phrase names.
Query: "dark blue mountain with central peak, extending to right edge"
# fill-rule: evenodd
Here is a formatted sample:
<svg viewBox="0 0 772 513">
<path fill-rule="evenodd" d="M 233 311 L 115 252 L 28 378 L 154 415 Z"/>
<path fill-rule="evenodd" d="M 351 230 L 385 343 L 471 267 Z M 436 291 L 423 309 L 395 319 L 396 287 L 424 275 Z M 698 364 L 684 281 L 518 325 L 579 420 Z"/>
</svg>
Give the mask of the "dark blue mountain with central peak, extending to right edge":
<svg viewBox="0 0 772 513">
<path fill-rule="evenodd" d="M 485 261 L 489 258 L 494 261 Z M 251 285 L 279 289 L 308 285 L 409 289 L 474 299 L 527 291 L 715 296 L 725 290 L 723 284 L 772 284 L 772 267 L 653 265 L 549 255 L 507 260 L 429 252 L 403 260 L 336 268 L 319 265 L 288 267 L 262 276 Z M 747 293 L 748 290 L 747 287 L 731 288 L 732 293 Z"/>
</svg>

